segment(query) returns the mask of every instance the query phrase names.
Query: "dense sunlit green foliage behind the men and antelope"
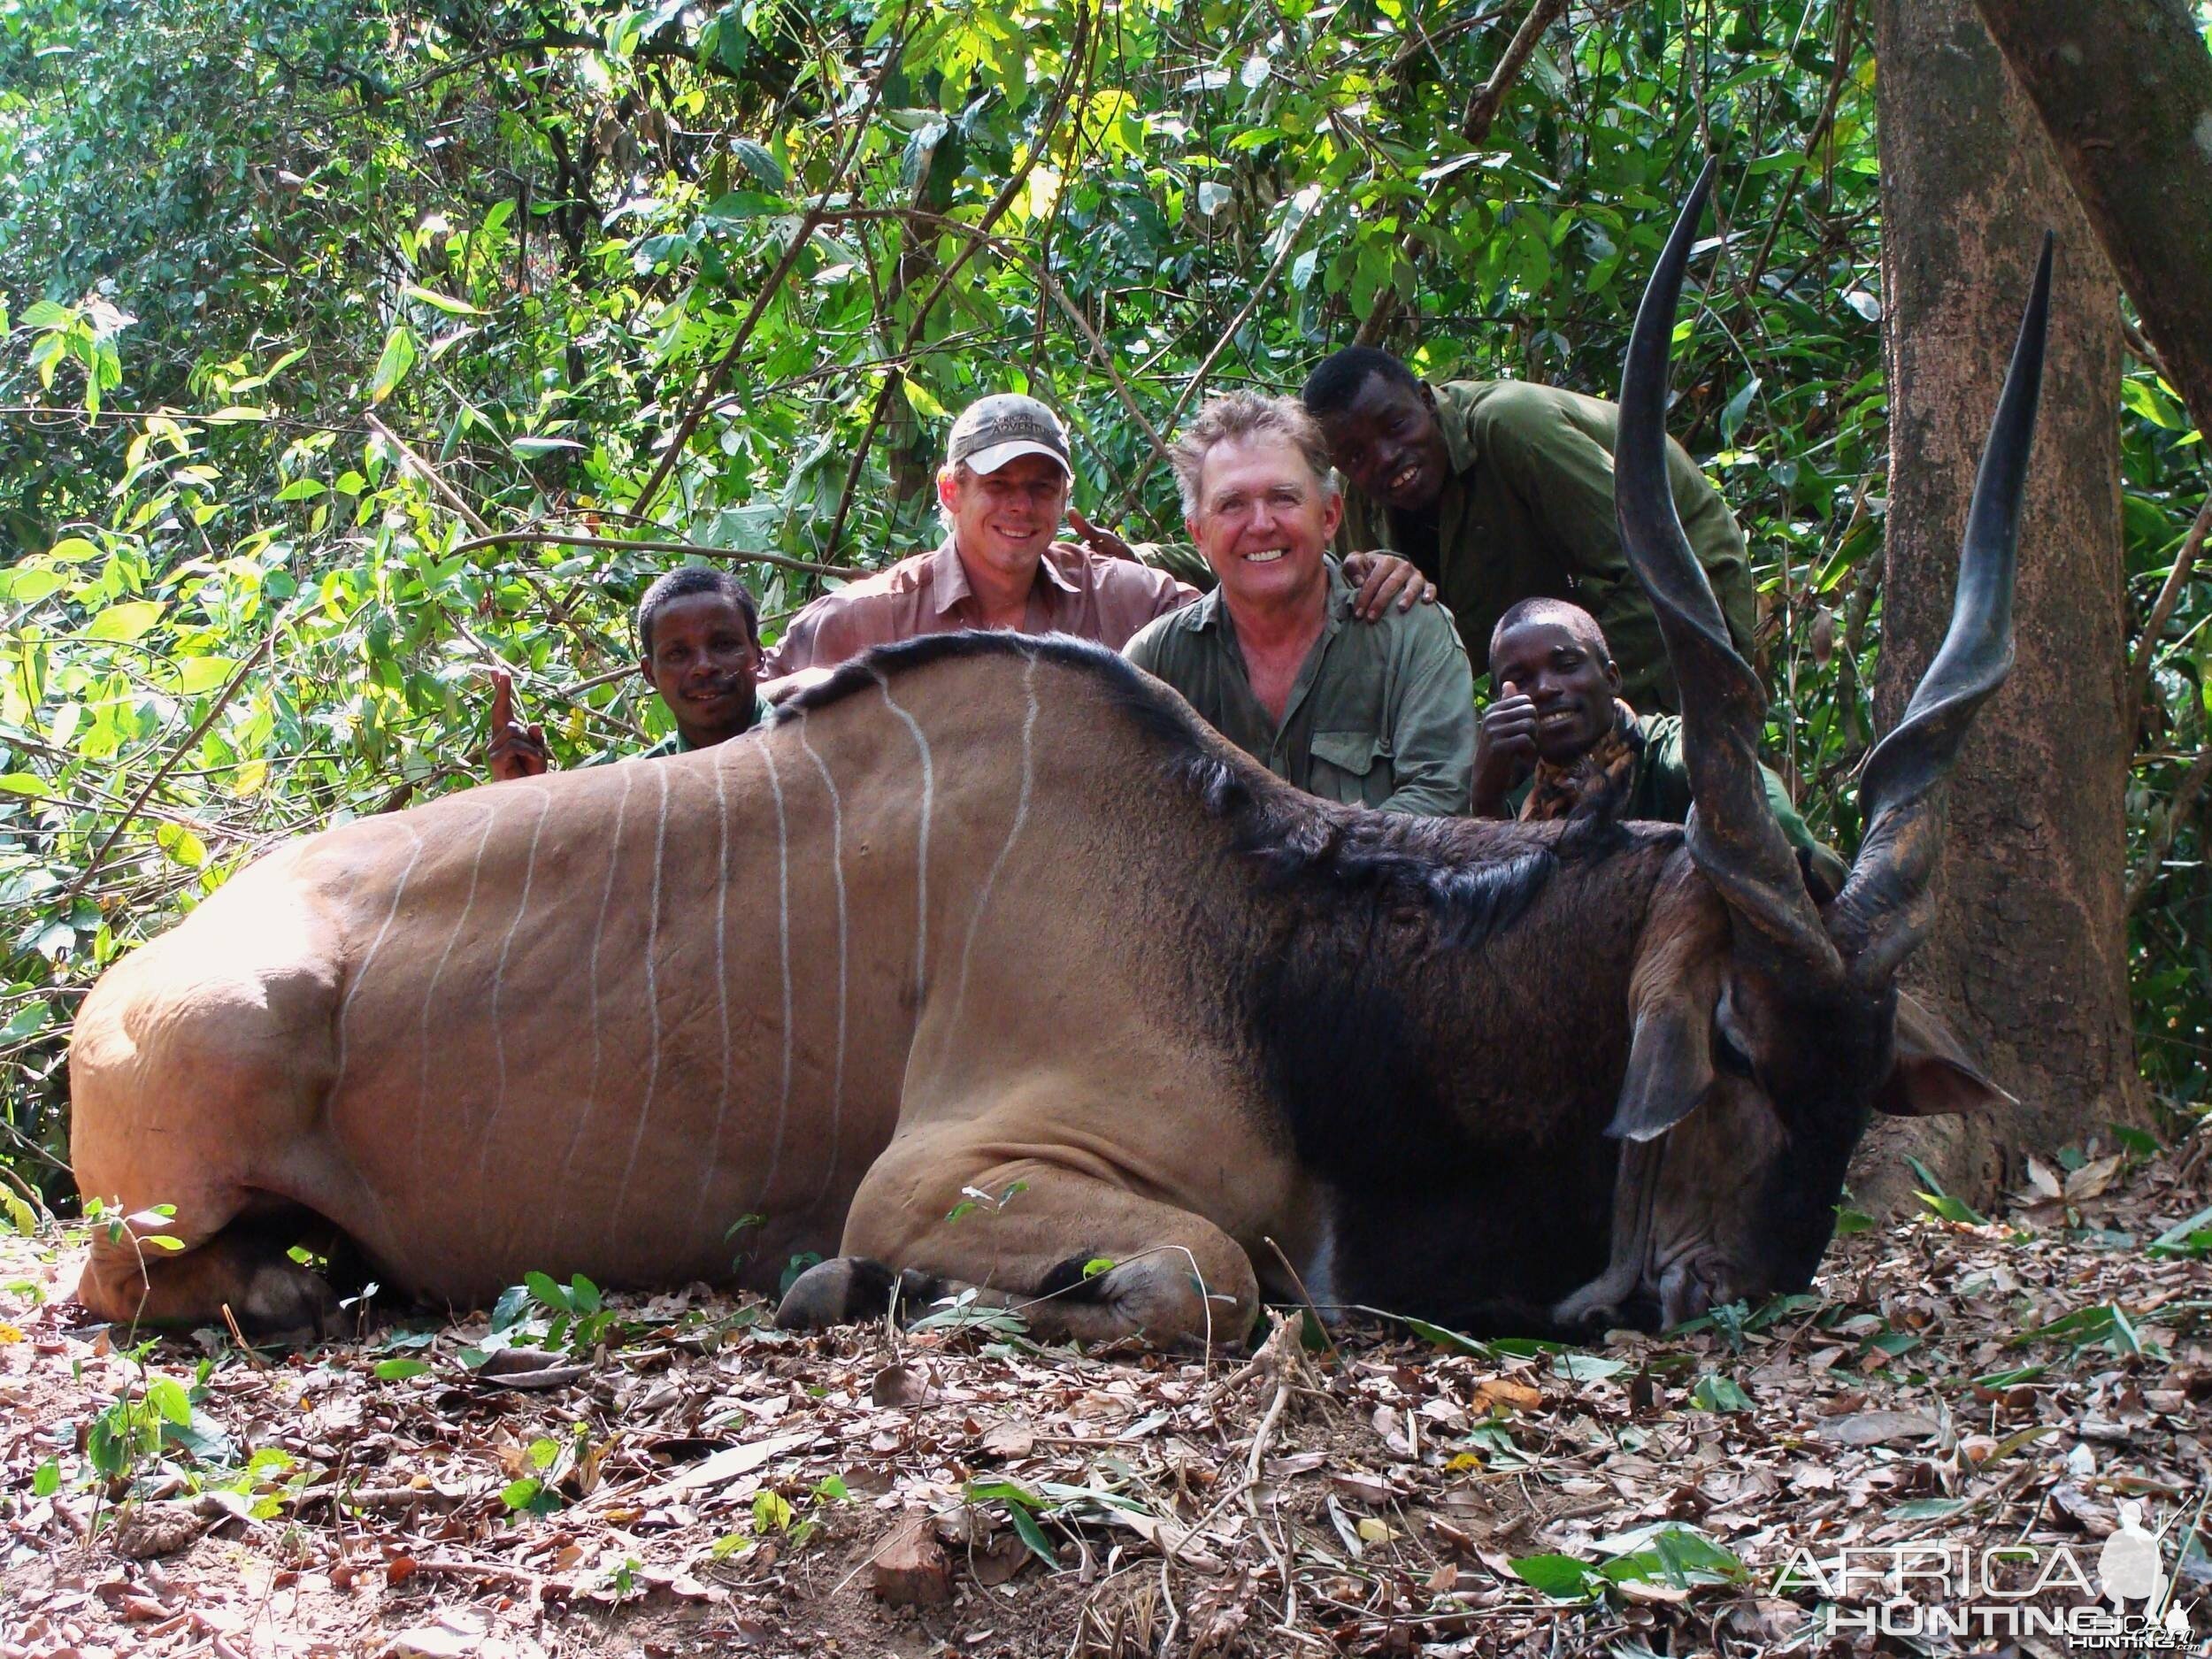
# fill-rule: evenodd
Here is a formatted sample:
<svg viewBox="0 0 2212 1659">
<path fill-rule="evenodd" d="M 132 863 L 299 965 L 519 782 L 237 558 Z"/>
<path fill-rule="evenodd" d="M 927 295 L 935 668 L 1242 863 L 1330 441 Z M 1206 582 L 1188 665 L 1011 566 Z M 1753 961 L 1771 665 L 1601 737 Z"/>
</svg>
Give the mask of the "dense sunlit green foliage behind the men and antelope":
<svg viewBox="0 0 2212 1659">
<path fill-rule="evenodd" d="M 624 608 L 695 542 L 770 630 L 929 535 L 1015 387 L 1164 533 L 1157 436 L 1385 307 L 1431 376 L 1608 392 L 1723 157 L 1674 434 L 1759 555 L 1774 754 L 1849 845 L 1885 403 L 1856 0 L 0 0 L 0 1172 L 66 1192 L 75 998 L 272 838 L 471 779 L 487 675 L 575 759 L 650 732 Z M 1478 100 L 1480 102 L 1480 100 Z M 2141 617 L 2203 502 L 2126 398 Z M 515 533 L 571 538 L 515 540 Z M 772 562 L 759 562 L 772 560 Z M 2143 1062 L 2203 1091 L 2212 586 L 2130 799 Z M 2199 779 L 2201 781 L 2201 779 Z M 2146 869 L 2154 865 L 2146 863 Z"/>
</svg>

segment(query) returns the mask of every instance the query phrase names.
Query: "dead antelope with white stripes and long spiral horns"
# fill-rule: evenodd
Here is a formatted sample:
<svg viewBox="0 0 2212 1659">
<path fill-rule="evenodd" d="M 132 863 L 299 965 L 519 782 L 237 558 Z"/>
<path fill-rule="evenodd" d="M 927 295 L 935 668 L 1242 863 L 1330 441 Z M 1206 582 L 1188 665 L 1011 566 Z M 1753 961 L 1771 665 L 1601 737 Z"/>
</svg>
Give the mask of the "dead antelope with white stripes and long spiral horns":
<svg viewBox="0 0 2212 1659">
<path fill-rule="evenodd" d="M 1619 453 L 1688 836 L 1336 807 L 1108 653 L 896 646 L 721 748 L 299 841 L 117 964 L 77 1022 L 73 1150 L 135 1214 L 84 1303 L 321 1318 L 285 1256 L 310 1223 L 460 1307 L 531 1267 L 768 1290 L 818 1250 L 787 1321 L 880 1314 L 898 1270 L 1079 1338 L 1239 1336 L 1290 1294 L 1276 1250 L 1318 1301 L 1449 1323 L 1803 1285 L 1867 1108 L 1993 1095 L 1896 971 L 1942 776 L 2011 659 L 2048 252 L 1951 637 L 1816 907 L 1663 482 L 1701 201 L 1637 321 Z"/>
</svg>

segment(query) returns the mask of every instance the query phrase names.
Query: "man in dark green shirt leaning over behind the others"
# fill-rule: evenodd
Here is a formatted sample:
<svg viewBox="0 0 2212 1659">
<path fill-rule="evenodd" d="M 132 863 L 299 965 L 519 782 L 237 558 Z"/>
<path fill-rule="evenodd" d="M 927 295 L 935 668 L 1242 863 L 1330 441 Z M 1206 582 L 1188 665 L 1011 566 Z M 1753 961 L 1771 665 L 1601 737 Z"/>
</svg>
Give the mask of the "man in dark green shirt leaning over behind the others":
<svg viewBox="0 0 2212 1659">
<path fill-rule="evenodd" d="M 1389 546 L 1413 560 L 1442 588 L 1478 672 L 1506 606 L 1573 599 L 1613 641 L 1628 701 L 1679 708 L 1659 622 L 1613 522 L 1615 405 L 1524 380 L 1431 387 L 1365 345 L 1325 358 L 1301 400 L 1352 484 L 1340 544 Z M 1674 442 L 1668 478 L 1728 633 L 1750 659 L 1754 595 L 1743 531 Z"/>
</svg>

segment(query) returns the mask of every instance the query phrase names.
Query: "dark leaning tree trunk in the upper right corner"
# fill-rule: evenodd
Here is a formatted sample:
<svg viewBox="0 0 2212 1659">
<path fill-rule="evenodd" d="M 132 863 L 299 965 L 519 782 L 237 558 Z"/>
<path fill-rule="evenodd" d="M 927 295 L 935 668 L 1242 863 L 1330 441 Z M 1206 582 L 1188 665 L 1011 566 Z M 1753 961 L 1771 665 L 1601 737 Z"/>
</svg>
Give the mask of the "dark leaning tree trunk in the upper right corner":
<svg viewBox="0 0 2212 1659">
<path fill-rule="evenodd" d="M 2199 431 L 2212 431 L 2212 51 L 2185 0 L 1975 0 Z"/>
</svg>

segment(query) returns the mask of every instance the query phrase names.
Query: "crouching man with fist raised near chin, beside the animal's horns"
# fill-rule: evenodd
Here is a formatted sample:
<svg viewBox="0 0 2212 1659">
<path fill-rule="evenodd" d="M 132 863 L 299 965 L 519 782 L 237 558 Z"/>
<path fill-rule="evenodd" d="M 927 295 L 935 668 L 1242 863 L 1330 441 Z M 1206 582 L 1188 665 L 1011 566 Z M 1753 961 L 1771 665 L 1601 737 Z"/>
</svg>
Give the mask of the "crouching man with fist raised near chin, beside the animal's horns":
<svg viewBox="0 0 2212 1659">
<path fill-rule="evenodd" d="M 1613 818 L 1686 823 L 1690 770 L 1679 714 L 1637 714 L 1621 701 L 1621 670 L 1597 619 L 1564 599 L 1522 599 L 1491 635 L 1498 699 L 1475 743 L 1478 818 Z M 1827 894 L 1847 865 L 1823 847 L 1790 787 L 1759 768 L 1767 807 L 1798 863 Z"/>
</svg>

